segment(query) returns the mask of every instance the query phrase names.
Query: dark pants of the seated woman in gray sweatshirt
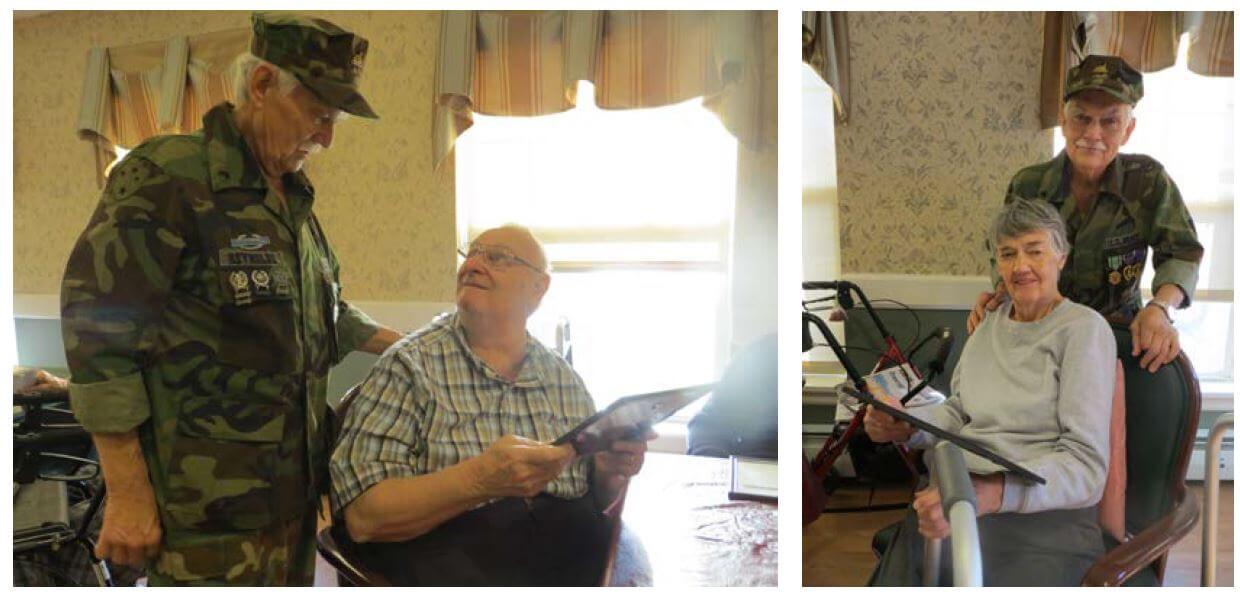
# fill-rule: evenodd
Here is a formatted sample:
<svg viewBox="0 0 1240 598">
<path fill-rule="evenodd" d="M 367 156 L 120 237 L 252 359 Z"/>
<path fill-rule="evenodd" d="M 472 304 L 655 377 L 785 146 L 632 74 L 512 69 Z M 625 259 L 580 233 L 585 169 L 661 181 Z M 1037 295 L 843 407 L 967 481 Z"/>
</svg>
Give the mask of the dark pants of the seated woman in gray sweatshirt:
<svg viewBox="0 0 1240 598">
<path fill-rule="evenodd" d="M 1001 512 L 977 520 L 986 586 L 1079 586 L 1104 553 L 1097 509 Z M 925 538 L 911 509 L 870 574 L 870 586 L 921 586 Z M 951 538 L 942 541 L 939 583 L 950 586 Z"/>
</svg>

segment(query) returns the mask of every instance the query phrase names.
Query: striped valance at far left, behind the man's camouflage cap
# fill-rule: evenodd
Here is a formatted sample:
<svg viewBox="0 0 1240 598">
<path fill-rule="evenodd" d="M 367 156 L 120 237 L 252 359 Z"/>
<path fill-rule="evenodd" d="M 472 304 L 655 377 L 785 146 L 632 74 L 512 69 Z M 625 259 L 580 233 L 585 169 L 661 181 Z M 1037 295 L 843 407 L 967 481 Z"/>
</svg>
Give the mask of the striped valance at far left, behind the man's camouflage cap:
<svg viewBox="0 0 1240 598">
<path fill-rule="evenodd" d="M 117 146 L 196 130 L 212 105 L 233 99 L 229 67 L 248 47 L 249 30 L 237 29 L 92 48 L 77 133 L 94 145 L 99 185 Z"/>
</svg>

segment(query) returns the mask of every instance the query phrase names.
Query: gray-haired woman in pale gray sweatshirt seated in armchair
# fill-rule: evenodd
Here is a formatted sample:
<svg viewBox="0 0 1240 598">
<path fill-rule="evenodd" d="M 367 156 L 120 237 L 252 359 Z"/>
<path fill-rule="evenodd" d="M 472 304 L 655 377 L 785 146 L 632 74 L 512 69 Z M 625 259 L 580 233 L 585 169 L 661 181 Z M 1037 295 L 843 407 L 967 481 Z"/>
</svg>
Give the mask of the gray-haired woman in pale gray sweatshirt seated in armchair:
<svg viewBox="0 0 1240 598">
<path fill-rule="evenodd" d="M 1107 471 L 1115 336 L 1097 311 L 1059 294 L 1068 241 L 1047 202 L 1008 203 L 990 239 L 1009 297 L 965 345 L 951 397 L 910 413 L 1047 479 L 1032 485 L 966 454 L 985 584 L 1075 586 L 1104 552 L 1096 505 Z M 866 432 L 874 442 L 931 443 L 877 409 Z M 918 493 L 870 582 L 918 584 L 924 537 L 949 531 L 937 489 Z M 950 571 L 950 551 L 942 555 Z"/>
</svg>

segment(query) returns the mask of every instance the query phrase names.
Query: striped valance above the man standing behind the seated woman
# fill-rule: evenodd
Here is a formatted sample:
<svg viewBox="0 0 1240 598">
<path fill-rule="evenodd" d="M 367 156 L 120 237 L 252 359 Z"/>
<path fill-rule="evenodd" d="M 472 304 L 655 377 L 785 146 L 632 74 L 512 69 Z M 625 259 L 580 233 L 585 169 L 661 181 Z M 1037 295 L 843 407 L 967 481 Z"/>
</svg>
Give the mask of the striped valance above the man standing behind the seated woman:
<svg viewBox="0 0 1240 598">
<path fill-rule="evenodd" d="M 1068 69 L 1089 55 L 1120 56 L 1141 72 L 1176 63 L 1188 32 L 1188 68 L 1209 77 L 1233 76 L 1233 12 L 1047 12 L 1043 30 L 1043 127 L 1059 123 Z"/>
</svg>

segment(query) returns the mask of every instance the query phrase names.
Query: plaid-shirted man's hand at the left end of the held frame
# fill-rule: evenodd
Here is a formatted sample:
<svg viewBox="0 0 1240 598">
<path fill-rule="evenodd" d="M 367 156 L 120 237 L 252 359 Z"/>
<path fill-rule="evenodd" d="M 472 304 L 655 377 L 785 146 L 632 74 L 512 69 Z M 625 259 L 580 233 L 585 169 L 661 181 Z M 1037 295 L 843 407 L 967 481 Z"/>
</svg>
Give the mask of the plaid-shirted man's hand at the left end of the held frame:
<svg viewBox="0 0 1240 598">
<path fill-rule="evenodd" d="M 489 499 L 534 496 L 575 457 L 570 445 L 554 447 L 510 434 L 470 462 L 474 490 Z"/>
</svg>

